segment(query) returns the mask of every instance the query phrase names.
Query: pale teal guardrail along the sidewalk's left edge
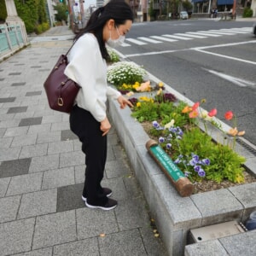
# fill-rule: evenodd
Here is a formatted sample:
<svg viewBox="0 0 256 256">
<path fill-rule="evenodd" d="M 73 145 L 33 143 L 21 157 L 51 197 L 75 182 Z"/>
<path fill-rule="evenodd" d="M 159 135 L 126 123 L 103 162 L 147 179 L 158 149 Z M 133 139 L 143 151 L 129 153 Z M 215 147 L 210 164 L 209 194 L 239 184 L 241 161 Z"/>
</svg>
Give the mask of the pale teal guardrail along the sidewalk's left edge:
<svg viewBox="0 0 256 256">
<path fill-rule="evenodd" d="M 26 44 L 26 38 L 22 36 L 20 25 L 0 25 L 0 61 L 23 48 Z"/>
</svg>

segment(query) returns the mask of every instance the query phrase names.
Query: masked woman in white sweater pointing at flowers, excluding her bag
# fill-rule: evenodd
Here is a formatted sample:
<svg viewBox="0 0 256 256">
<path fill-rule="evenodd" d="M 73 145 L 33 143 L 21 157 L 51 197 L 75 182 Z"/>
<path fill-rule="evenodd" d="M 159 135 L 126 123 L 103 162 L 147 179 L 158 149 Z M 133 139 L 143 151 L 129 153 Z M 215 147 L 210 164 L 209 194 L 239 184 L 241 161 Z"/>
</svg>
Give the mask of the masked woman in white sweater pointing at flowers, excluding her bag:
<svg viewBox="0 0 256 256">
<path fill-rule="evenodd" d="M 117 206 L 117 201 L 109 198 L 112 190 L 101 186 L 107 158 L 107 134 L 111 128 L 106 114 L 107 97 L 116 99 L 120 108 L 132 105 L 107 84 L 109 55 L 105 44 L 123 43 L 132 21 L 132 10 L 125 1 L 112 0 L 96 9 L 76 37 L 65 70 L 67 77 L 81 86 L 70 113 L 70 127 L 79 137 L 85 154 L 82 199 L 90 208 L 111 210 Z"/>
</svg>

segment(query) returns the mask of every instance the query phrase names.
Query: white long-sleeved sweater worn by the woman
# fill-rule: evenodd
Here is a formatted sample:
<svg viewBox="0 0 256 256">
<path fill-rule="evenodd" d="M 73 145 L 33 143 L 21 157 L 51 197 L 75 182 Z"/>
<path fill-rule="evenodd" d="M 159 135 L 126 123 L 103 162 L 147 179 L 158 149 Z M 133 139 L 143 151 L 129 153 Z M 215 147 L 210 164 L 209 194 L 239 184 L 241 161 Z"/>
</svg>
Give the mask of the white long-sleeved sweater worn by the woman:
<svg viewBox="0 0 256 256">
<path fill-rule="evenodd" d="M 121 94 L 108 86 L 107 64 L 102 58 L 96 37 L 86 33 L 73 45 L 65 74 L 81 86 L 75 103 L 101 122 L 106 118 L 107 96 L 117 99 Z"/>
</svg>

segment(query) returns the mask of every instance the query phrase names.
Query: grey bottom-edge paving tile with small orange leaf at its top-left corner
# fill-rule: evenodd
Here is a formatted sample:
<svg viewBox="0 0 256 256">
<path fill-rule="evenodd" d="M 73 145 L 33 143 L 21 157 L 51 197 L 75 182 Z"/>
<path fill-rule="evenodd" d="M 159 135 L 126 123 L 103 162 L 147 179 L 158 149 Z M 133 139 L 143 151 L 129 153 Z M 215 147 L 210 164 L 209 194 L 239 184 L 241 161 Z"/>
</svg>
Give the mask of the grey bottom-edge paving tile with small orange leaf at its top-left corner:
<svg viewBox="0 0 256 256">
<path fill-rule="evenodd" d="M 139 230 L 129 230 L 99 237 L 99 246 L 101 256 L 148 255 Z"/>
</svg>

